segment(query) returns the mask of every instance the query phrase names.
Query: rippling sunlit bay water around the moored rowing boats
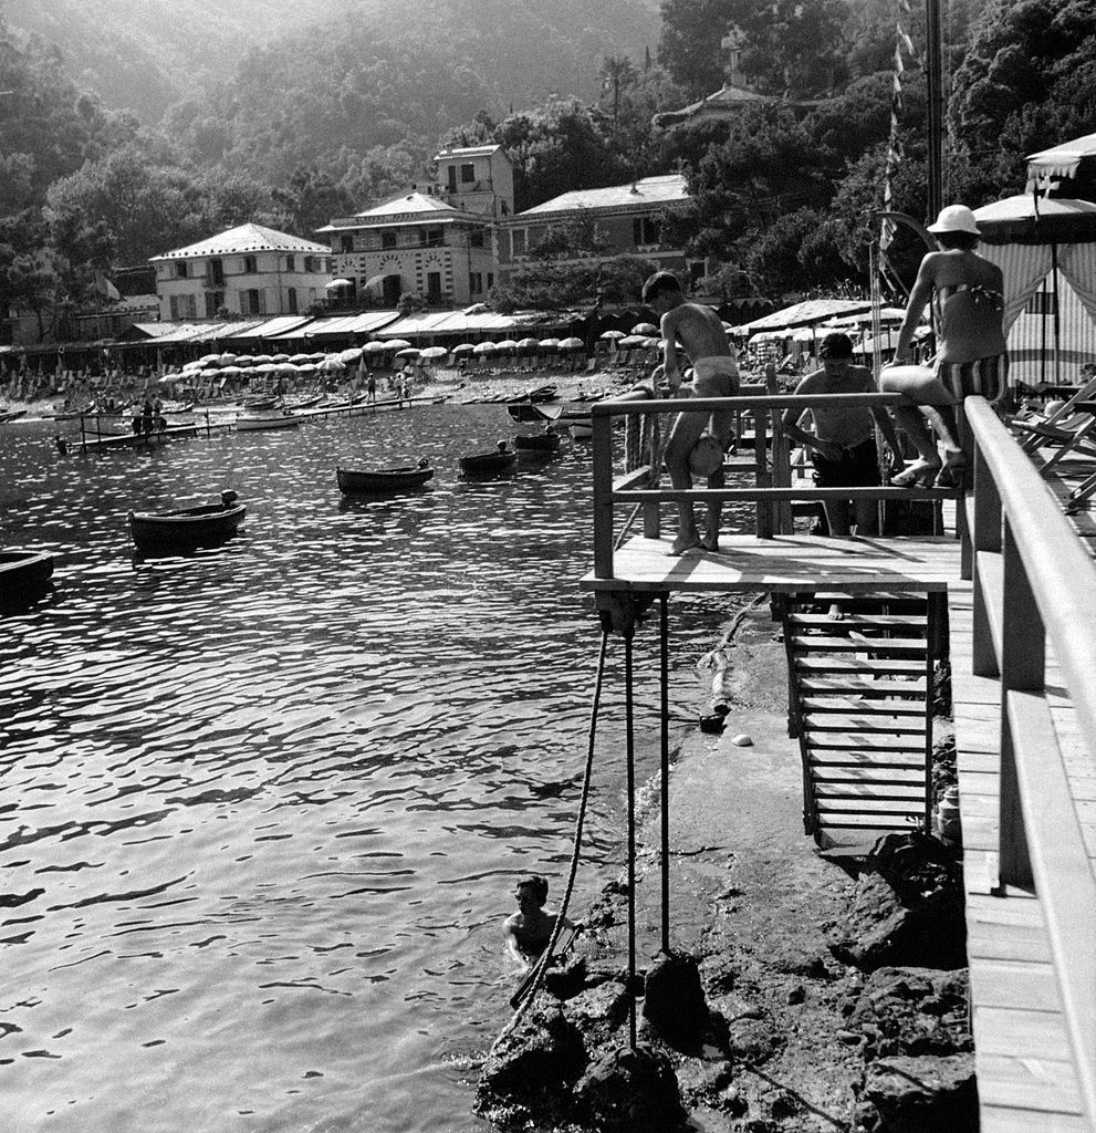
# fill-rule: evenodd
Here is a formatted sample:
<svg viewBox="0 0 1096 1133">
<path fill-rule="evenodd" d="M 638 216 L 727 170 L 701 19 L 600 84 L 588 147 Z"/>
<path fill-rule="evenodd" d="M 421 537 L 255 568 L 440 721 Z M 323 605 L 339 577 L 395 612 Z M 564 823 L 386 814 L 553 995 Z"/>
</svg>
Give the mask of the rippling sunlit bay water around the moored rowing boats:
<svg viewBox="0 0 1096 1133">
<path fill-rule="evenodd" d="M 514 876 L 558 896 L 598 627 L 589 455 L 464 483 L 502 407 L 65 460 L 0 431 L 0 545 L 57 593 L 0 620 L 3 1127 L 439 1131 L 508 1017 Z M 433 491 L 346 500 L 336 462 Z M 142 562 L 129 508 L 232 487 L 241 536 Z M 675 712 L 711 611 L 675 603 Z M 637 726 L 656 726 L 654 634 Z M 581 910 L 622 860 L 610 648 Z M 651 770 L 644 752 L 641 773 Z"/>
</svg>

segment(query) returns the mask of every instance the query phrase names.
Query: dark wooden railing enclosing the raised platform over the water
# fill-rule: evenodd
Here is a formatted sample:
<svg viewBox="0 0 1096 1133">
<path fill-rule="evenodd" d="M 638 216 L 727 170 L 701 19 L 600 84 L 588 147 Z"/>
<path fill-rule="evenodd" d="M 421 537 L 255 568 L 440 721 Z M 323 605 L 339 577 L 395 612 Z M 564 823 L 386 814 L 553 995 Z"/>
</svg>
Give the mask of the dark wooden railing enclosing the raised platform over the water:
<svg viewBox="0 0 1096 1133">
<path fill-rule="evenodd" d="M 810 502 L 828 500 L 940 500 L 952 493 L 930 488 L 819 488 L 813 484 L 791 486 L 787 445 L 780 428 L 780 417 L 789 408 L 811 409 L 815 406 L 832 409 L 834 406 L 871 409 L 888 407 L 898 402 L 897 393 L 842 393 L 824 395 L 771 394 L 759 392 L 763 387 L 744 386 L 738 398 L 688 398 L 658 399 L 653 401 L 618 400 L 598 401 L 591 406 L 591 443 L 593 446 L 593 571 L 598 578 L 610 579 L 613 574 L 614 505 L 617 503 L 645 504 L 656 508 L 660 503 L 692 500 L 705 503 L 712 500 L 737 503 L 756 503 L 756 535 L 771 538 L 789 529 L 781 520 L 781 509 L 786 514 L 791 501 Z M 717 410 L 733 410 L 748 414 L 754 419 L 754 469 L 753 487 L 739 488 L 650 488 L 650 469 L 635 469 L 614 479 L 613 472 L 613 418 L 622 414 L 679 414 Z M 773 440 L 776 459 L 767 458 L 769 436 Z"/>
</svg>

